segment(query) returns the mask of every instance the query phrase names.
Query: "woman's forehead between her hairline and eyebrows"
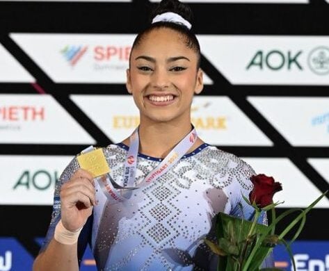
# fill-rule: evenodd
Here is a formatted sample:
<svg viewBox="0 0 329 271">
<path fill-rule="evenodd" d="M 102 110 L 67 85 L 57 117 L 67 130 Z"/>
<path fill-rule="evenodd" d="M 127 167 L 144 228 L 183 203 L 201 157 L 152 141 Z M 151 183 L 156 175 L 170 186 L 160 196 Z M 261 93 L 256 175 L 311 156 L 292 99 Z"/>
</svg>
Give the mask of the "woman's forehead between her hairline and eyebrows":
<svg viewBox="0 0 329 271">
<path fill-rule="evenodd" d="M 133 59 L 140 54 L 155 58 L 176 55 L 196 58 L 195 51 L 189 48 L 186 42 L 186 37 L 182 33 L 170 28 L 155 28 L 143 35 L 138 45 L 131 51 L 131 56 Z"/>
</svg>

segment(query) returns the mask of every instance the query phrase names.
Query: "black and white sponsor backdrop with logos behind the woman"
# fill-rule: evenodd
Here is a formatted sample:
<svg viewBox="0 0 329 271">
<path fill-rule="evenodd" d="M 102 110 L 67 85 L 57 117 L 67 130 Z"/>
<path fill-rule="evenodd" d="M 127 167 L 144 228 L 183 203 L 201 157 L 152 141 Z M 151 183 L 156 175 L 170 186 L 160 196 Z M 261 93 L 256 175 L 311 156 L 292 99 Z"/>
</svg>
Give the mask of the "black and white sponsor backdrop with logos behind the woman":
<svg viewBox="0 0 329 271">
<path fill-rule="evenodd" d="M 0 271 L 31 270 L 74 155 L 138 125 L 125 70 L 154 2 L 0 1 Z M 186 2 L 205 81 L 193 124 L 282 182 L 278 213 L 305 208 L 329 187 L 329 1 Z M 327 197 L 308 215 L 298 270 L 329 270 L 328 212 Z M 291 270 L 283 247 L 275 260 Z"/>
</svg>

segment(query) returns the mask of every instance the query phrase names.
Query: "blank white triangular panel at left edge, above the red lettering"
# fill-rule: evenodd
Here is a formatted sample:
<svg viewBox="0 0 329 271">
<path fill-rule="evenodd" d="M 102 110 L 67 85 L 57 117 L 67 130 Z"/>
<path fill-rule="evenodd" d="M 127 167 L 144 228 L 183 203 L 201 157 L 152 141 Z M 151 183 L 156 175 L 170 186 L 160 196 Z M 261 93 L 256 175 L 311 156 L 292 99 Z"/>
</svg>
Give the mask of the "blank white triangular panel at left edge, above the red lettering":
<svg viewBox="0 0 329 271">
<path fill-rule="evenodd" d="M 35 79 L 24 67 L 0 44 L 0 83 L 33 83 Z"/>
</svg>

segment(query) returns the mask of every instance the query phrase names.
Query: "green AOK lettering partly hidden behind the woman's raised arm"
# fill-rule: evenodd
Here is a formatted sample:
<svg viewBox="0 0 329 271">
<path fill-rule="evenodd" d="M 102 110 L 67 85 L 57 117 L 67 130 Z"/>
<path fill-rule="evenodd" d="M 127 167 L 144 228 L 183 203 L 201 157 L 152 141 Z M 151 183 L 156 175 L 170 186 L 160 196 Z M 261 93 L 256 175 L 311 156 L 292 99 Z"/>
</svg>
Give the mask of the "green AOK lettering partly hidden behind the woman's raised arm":
<svg viewBox="0 0 329 271">
<path fill-rule="evenodd" d="M 56 180 L 58 180 L 58 172 L 48 172 L 47 170 L 38 170 L 30 172 L 25 170 L 19 176 L 18 180 L 13 186 L 13 190 L 17 189 L 35 189 L 35 190 L 47 190 L 55 187 Z"/>
</svg>

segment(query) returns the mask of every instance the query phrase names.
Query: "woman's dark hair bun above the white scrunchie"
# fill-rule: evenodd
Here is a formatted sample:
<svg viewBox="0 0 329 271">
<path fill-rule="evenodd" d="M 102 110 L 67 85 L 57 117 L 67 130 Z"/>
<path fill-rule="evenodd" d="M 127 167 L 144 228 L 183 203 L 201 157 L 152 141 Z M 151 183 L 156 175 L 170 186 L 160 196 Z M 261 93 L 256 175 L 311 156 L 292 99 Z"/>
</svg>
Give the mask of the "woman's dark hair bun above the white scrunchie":
<svg viewBox="0 0 329 271">
<path fill-rule="evenodd" d="M 154 9 L 151 15 L 151 22 L 154 17 L 161 15 L 162 13 L 177 13 L 182 16 L 186 21 L 192 23 L 193 13 L 189 6 L 179 2 L 178 0 L 162 0 L 159 6 Z"/>
</svg>

